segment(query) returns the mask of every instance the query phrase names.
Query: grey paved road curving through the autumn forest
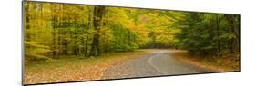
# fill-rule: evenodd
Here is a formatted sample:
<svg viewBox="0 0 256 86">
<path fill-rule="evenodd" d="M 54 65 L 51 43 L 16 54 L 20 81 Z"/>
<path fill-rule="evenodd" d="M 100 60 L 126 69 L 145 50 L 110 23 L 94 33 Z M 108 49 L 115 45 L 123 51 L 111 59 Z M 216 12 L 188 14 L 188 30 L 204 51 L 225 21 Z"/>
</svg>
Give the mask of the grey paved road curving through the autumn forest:
<svg viewBox="0 0 256 86">
<path fill-rule="evenodd" d="M 185 62 L 179 62 L 171 56 L 177 51 L 158 50 L 126 62 L 114 64 L 103 72 L 103 79 L 147 77 L 210 72 Z"/>
</svg>

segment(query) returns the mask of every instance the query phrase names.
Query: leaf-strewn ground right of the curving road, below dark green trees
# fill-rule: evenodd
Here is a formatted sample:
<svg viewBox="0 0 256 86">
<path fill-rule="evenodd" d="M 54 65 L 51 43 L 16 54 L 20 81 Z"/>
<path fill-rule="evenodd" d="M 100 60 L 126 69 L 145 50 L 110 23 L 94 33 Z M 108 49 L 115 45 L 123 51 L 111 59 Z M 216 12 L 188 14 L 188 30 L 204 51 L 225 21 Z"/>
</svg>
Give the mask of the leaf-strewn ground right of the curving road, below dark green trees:
<svg viewBox="0 0 256 86">
<path fill-rule="evenodd" d="M 191 56 L 186 52 L 178 52 L 173 55 L 181 62 L 188 62 L 189 64 L 196 65 L 213 72 L 240 71 L 239 53 L 223 54 L 220 57 L 200 55 Z"/>
</svg>

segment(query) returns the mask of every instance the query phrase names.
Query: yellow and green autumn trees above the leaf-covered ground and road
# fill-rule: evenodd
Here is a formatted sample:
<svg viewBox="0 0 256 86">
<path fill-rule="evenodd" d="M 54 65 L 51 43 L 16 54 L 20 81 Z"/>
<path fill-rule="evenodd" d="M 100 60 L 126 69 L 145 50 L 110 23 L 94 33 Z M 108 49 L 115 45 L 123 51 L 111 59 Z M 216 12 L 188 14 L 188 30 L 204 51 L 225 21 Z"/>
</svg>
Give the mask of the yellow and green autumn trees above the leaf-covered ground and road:
<svg viewBox="0 0 256 86">
<path fill-rule="evenodd" d="M 239 14 L 25 2 L 23 18 L 26 62 L 138 49 L 240 53 Z"/>
</svg>

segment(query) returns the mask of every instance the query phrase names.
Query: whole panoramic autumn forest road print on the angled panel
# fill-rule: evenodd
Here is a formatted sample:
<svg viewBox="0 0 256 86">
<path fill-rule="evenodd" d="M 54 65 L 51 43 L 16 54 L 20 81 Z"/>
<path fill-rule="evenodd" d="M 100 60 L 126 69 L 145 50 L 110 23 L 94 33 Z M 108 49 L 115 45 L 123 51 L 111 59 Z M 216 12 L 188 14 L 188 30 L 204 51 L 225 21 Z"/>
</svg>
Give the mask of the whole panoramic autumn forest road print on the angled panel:
<svg viewBox="0 0 256 86">
<path fill-rule="evenodd" d="M 25 84 L 240 71 L 240 14 L 24 2 Z"/>
</svg>

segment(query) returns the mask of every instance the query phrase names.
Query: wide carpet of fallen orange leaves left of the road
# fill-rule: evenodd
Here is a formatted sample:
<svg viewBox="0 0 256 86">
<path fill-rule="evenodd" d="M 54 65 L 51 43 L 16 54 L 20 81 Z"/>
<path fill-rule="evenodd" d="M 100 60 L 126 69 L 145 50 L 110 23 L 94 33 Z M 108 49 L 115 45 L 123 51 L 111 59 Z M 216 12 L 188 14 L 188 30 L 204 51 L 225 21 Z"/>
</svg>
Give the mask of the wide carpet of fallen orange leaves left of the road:
<svg viewBox="0 0 256 86">
<path fill-rule="evenodd" d="M 102 71 L 116 62 L 139 57 L 150 51 L 109 53 L 100 57 L 62 56 L 53 61 L 25 63 L 25 84 L 100 80 Z"/>
</svg>

